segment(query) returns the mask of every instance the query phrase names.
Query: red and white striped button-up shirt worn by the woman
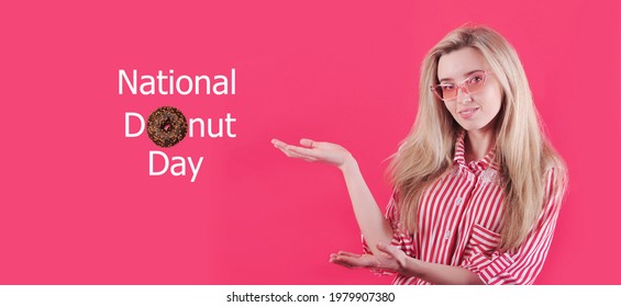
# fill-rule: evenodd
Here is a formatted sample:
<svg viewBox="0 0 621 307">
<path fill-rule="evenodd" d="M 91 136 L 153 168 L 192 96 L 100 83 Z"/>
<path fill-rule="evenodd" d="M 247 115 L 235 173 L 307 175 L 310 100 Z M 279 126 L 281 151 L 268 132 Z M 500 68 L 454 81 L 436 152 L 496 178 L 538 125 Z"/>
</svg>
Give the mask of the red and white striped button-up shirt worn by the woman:
<svg viewBox="0 0 621 307">
<path fill-rule="evenodd" d="M 465 268 L 486 284 L 532 284 L 541 272 L 552 242 L 565 186 L 554 186 L 558 169 L 545 173 L 545 203 L 539 221 L 518 248 L 500 252 L 503 192 L 495 150 L 466 163 L 464 137 L 456 140 L 453 171 L 425 189 L 419 206 L 419 231 L 400 231 L 398 209 L 391 197 L 386 218 L 392 226 L 392 245 L 415 259 Z M 364 245 L 366 253 L 370 250 Z M 395 284 L 429 284 L 397 275 Z"/>
</svg>

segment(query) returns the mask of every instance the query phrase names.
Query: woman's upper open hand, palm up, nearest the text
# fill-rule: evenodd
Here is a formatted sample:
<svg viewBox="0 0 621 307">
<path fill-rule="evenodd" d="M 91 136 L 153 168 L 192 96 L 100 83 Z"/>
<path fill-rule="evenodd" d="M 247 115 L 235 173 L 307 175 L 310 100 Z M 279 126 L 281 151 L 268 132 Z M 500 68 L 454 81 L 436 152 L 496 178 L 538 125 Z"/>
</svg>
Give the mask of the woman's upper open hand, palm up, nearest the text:
<svg viewBox="0 0 621 307">
<path fill-rule="evenodd" d="M 309 162 L 324 162 L 336 166 L 342 171 L 356 164 L 354 157 L 340 145 L 300 139 L 300 146 L 288 145 L 281 140 L 273 139 L 274 147 L 280 149 L 287 157 L 298 158 Z"/>
</svg>

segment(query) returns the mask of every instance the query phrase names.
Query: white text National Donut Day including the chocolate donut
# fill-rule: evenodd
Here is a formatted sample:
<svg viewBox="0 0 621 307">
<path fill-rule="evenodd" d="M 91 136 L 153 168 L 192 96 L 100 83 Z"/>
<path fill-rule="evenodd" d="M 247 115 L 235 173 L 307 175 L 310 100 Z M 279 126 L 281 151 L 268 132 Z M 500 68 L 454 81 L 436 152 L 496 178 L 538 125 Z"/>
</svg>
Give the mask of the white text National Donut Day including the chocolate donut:
<svg viewBox="0 0 621 307">
<path fill-rule="evenodd" d="M 200 76 L 175 76 L 174 70 L 165 75 L 162 70 L 157 75 L 141 75 L 136 69 L 127 73 L 124 69 L 119 70 L 119 95 L 234 95 L 235 94 L 235 69 L 231 73 L 209 77 Z M 236 118 L 226 113 L 221 118 L 187 118 L 184 113 L 170 105 L 156 107 L 151 114 L 138 112 L 125 112 L 125 137 L 135 138 L 147 132 L 151 140 L 164 149 L 177 146 L 187 137 L 200 138 L 235 138 L 233 124 Z M 204 157 L 169 157 L 163 150 L 148 151 L 148 175 L 164 175 L 168 171 L 174 177 L 185 177 L 191 172 L 190 182 L 195 182 Z M 156 163 L 157 162 L 157 163 Z M 156 167 L 157 164 L 157 167 Z M 186 167 L 186 166 L 189 166 Z"/>
</svg>

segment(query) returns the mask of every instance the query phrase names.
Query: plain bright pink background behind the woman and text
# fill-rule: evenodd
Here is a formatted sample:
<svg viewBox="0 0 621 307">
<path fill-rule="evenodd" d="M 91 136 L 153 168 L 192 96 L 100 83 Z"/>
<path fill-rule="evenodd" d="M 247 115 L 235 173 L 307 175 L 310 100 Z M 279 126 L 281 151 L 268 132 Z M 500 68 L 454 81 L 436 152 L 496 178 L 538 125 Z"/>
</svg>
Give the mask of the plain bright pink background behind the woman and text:
<svg viewBox="0 0 621 307">
<path fill-rule="evenodd" d="M 278 137 L 342 144 L 381 207 L 384 161 L 417 111 L 420 62 L 450 30 L 492 26 L 518 49 L 570 189 L 539 284 L 621 284 L 619 1 L 200 1 L 2 4 L 2 284 L 387 284 L 328 262 L 359 251 L 336 169 L 290 160 Z M 236 95 L 118 94 L 119 69 L 237 71 Z M 148 175 L 124 113 L 231 113 L 237 138 Z"/>
</svg>

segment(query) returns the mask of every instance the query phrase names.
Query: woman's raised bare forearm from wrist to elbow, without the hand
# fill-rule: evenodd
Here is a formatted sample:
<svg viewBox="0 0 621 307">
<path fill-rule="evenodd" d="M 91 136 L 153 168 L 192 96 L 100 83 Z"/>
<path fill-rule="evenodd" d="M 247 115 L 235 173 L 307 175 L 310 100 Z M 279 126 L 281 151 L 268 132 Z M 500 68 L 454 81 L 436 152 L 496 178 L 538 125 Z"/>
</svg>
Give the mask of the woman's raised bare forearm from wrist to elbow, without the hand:
<svg viewBox="0 0 621 307">
<path fill-rule="evenodd" d="M 378 242 L 390 245 L 392 228 L 377 206 L 356 160 L 351 156 L 347 157 L 341 170 L 343 171 L 358 227 L 365 237 L 367 246 L 376 254 Z"/>
</svg>

